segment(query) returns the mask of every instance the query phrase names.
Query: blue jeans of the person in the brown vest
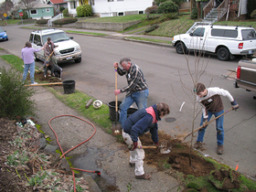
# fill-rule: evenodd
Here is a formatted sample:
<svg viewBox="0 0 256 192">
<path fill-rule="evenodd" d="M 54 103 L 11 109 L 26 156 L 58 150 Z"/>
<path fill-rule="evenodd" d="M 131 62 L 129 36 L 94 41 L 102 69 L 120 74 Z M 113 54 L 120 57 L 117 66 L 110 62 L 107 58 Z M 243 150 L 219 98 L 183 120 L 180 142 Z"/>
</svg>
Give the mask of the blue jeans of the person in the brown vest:
<svg viewBox="0 0 256 192">
<path fill-rule="evenodd" d="M 210 118 L 213 114 L 215 115 L 215 117 L 217 117 L 220 114 L 222 114 L 223 112 L 224 112 L 224 110 L 222 110 L 221 112 L 208 112 L 208 122 L 209 122 L 209 120 L 210 120 Z M 200 126 L 203 125 L 203 122 L 204 122 L 204 118 L 203 118 L 203 115 L 202 115 Z M 218 145 L 223 145 L 224 144 L 223 122 L 224 122 L 224 115 L 222 115 L 221 117 L 219 117 L 219 119 L 216 120 L 217 144 Z M 206 132 L 206 128 L 202 128 L 198 131 L 197 142 L 203 142 L 204 141 L 204 135 L 205 135 L 205 132 Z"/>
</svg>

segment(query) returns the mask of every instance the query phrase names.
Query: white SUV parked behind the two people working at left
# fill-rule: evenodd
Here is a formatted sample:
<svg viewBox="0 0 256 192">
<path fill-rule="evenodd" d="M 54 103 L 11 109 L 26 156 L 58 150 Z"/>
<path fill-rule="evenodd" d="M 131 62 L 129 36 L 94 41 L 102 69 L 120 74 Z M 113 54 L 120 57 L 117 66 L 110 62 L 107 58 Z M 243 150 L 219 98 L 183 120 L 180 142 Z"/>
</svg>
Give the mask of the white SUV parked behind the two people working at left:
<svg viewBox="0 0 256 192">
<path fill-rule="evenodd" d="M 55 48 L 55 58 L 57 62 L 74 60 L 76 63 L 81 61 L 81 49 L 80 45 L 73 41 L 73 37 L 69 37 L 63 30 L 59 29 L 45 29 L 35 30 L 31 32 L 29 42 L 33 48 L 42 48 L 47 42 L 48 37 L 54 42 L 57 48 Z M 45 60 L 44 50 L 35 52 L 35 59 Z"/>
</svg>

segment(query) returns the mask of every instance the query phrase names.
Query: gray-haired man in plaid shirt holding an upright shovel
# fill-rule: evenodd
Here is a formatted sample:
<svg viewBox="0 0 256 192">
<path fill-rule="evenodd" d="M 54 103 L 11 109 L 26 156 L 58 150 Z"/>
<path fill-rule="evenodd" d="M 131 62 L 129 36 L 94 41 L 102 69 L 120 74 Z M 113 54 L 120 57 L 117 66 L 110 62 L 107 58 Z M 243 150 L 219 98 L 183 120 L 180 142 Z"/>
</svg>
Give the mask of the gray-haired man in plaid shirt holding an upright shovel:
<svg viewBox="0 0 256 192">
<path fill-rule="evenodd" d="M 113 63 L 113 67 L 117 69 L 120 76 L 125 75 L 128 85 L 121 90 L 115 90 L 114 94 L 126 92 L 125 98 L 120 105 L 119 122 L 122 124 L 127 118 L 127 110 L 136 103 L 139 110 L 146 108 L 146 101 L 148 97 L 148 86 L 144 80 L 144 73 L 139 66 L 131 62 L 129 58 L 120 59 L 120 69 L 117 62 Z"/>
</svg>

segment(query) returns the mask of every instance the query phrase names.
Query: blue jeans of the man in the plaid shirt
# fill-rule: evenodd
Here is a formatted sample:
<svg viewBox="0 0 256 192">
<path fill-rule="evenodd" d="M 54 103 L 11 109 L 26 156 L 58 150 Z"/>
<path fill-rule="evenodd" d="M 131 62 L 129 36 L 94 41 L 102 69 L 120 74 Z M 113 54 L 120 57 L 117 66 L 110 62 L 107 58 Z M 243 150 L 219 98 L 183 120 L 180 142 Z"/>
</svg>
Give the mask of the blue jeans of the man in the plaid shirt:
<svg viewBox="0 0 256 192">
<path fill-rule="evenodd" d="M 133 102 L 136 103 L 139 110 L 146 108 L 146 101 L 148 97 L 148 89 L 144 91 L 137 91 L 133 92 L 132 95 L 125 97 L 120 104 L 120 116 L 119 116 L 119 122 L 122 124 L 125 122 L 127 118 L 127 110 L 130 108 L 130 106 L 133 104 Z"/>
</svg>

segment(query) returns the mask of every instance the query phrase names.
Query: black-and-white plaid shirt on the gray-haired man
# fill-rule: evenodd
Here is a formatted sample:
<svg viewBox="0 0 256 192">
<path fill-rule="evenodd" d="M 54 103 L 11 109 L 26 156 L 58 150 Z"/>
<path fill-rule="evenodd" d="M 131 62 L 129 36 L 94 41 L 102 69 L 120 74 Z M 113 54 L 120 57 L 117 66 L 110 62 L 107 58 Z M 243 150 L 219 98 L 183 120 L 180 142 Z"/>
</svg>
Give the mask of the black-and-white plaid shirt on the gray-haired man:
<svg viewBox="0 0 256 192">
<path fill-rule="evenodd" d="M 121 90 L 121 92 L 126 92 L 126 97 L 130 96 L 133 92 L 143 91 L 148 88 L 144 80 L 144 73 L 136 64 L 131 63 L 131 68 L 128 71 L 118 68 L 117 72 L 121 76 L 126 76 L 128 85 Z"/>
</svg>

